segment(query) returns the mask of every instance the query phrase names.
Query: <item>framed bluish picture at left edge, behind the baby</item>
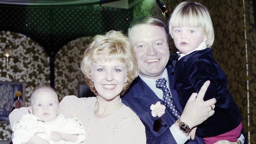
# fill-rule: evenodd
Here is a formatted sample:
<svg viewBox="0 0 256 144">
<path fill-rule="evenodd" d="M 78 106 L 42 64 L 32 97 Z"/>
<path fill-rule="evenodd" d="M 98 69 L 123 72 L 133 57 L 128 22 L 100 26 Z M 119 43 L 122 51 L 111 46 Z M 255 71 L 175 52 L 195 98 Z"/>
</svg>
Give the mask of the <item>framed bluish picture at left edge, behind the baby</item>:
<svg viewBox="0 0 256 144">
<path fill-rule="evenodd" d="M 25 103 L 25 82 L 0 81 L 0 123 L 9 124 L 9 114 Z"/>
</svg>

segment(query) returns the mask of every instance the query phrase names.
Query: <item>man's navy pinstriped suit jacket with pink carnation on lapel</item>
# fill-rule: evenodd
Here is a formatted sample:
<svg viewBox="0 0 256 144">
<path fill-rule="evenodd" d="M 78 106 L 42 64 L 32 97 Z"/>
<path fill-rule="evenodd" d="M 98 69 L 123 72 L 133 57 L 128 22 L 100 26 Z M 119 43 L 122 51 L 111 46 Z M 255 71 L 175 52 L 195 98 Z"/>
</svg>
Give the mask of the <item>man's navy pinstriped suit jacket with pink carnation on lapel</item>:
<svg viewBox="0 0 256 144">
<path fill-rule="evenodd" d="M 168 77 L 169 77 L 169 87 L 170 92 L 173 96 L 174 103 L 178 111 L 182 112 L 182 107 L 180 105 L 178 94 L 174 90 L 174 75 L 171 75 L 173 70 L 172 65 L 168 65 Z M 130 89 L 124 96 L 122 96 L 122 102 L 130 107 L 141 119 L 146 128 L 147 144 L 176 144 L 173 135 L 169 128 L 176 122 L 176 117 L 173 116 L 169 108 L 165 109 L 165 114 L 161 116 L 161 120 L 166 124 L 166 126 L 161 127 L 161 132 L 156 132 L 153 129 L 153 124 L 159 117 L 153 117 L 151 114 L 150 106 L 156 104 L 156 102 L 161 102 L 156 94 L 148 87 L 148 85 L 141 79 L 137 78 L 130 86 Z M 196 137 L 195 140 L 189 140 L 188 144 L 204 144 L 204 141 L 200 137 Z"/>
</svg>

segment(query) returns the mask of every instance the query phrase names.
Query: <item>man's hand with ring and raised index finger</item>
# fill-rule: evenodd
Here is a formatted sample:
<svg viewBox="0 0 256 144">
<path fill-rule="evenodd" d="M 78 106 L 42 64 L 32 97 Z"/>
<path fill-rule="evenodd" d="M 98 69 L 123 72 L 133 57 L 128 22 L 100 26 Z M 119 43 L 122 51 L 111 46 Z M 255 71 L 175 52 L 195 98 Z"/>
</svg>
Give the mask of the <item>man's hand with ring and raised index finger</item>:
<svg viewBox="0 0 256 144">
<path fill-rule="evenodd" d="M 201 124 L 214 114 L 213 109 L 215 108 L 214 104 L 216 103 L 216 99 L 212 98 L 204 102 L 204 94 L 209 85 L 210 81 L 206 81 L 198 94 L 191 94 L 184 111 L 180 116 L 180 120 L 188 124 L 190 128 Z"/>
</svg>

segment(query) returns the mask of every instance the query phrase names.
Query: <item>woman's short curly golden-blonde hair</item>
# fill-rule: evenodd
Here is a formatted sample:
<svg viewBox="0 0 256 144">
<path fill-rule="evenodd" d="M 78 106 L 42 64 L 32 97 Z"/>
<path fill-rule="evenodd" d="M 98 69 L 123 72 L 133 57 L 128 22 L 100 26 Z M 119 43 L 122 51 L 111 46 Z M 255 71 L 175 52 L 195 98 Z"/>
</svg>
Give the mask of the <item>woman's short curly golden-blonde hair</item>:
<svg viewBox="0 0 256 144">
<path fill-rule="evenodd" d="M 139 67 L 133 46 L 121 31 L 108 31 L 105 35 L 96 35 L 85 50 L 80 65 L 86 84 L 96 95 L 97 91 L 91 81 L 92 63 L 111 60 L 119 60 L 126 65 L 127 82 L 124 83 L 121 95 L 124 94 L 132 81 L 139 75 Z"/>
</svg>

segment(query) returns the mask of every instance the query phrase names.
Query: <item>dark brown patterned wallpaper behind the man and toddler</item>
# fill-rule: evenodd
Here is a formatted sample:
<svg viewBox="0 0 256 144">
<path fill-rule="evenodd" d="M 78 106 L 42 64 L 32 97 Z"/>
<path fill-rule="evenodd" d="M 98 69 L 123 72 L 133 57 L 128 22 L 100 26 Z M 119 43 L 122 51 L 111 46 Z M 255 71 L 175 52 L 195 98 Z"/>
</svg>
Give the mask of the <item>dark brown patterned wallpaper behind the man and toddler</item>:
<svg viewBox="0 0 256 144">
<path fill-rule="evenodd" d="M 167 6 L 169 14 L 171 14 L 174 7 L 182 1 L 162 0 L 161 2 Z M 213 56 L 227 75 L 228 89 L 239 106 L 247 139 L 249 138 L 248 131 L 250 131 L 250 142 L 254 144 L 256 143 L 256 37 L 252 1 L 244 0 L 244 4 L 242 0 L 195 1 L 203 3 L 210 10 L 215 29 L 215 41 L 212 46 Z M 245 6 L 245 9 L 243 6 Z M 244 14 L 246 28 L 244 27 Z M 144 0 L 134 7 L 134 18 L 144 15 L 154 16 L 163 20 L 166 24 L 168 23 L 168 18 L 163 17 L 161 9 L 154 0 Z M 246 39 L 245 30 L 247 33 Z M 171 52 L 176 51 L 174 47 L 171 40 Z M 249 83 L 249 101 L 247 100 L 247 80 Z M 250 126 L 248 126 L 247 103 L 250 106 Z"/>
</svg>

